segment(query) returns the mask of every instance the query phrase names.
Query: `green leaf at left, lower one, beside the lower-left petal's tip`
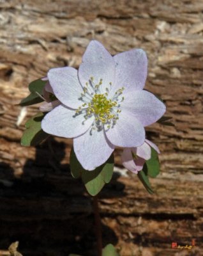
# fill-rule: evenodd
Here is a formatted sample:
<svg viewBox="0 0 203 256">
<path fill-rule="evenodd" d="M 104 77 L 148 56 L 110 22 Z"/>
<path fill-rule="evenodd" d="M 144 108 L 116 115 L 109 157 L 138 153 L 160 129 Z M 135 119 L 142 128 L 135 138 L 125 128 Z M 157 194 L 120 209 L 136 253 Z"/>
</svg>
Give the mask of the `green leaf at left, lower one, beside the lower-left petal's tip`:
<svg viewBox="0 0 203 256">
<path fill-rule="evenodd" d="M 22 134 L 21 145 L 22 146 L 36 146 L 41 141 L 45 140 L 49 136 L 41 129 L 41 120 L 45 116 L 45 113 L 38 113 L 29 120 L 27 120 L 25 126 L 26 130 Z"/>
</svg>

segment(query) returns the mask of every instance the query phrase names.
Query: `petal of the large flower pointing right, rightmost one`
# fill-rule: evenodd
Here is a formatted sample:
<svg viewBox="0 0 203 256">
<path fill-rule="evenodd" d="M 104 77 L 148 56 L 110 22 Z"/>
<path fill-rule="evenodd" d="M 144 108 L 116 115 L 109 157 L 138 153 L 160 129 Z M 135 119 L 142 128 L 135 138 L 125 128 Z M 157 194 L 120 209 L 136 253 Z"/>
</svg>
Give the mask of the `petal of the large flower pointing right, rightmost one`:
<svg viewBox="0 0 203 256">
<path fill-rule="evenodd" d="M 123 97 L 121 108 L 134 113 L 144 127 L 153 124 L 165 113 L 165 105 L 153 93 L 129 90 L 123 92 Z"/>
</svg>

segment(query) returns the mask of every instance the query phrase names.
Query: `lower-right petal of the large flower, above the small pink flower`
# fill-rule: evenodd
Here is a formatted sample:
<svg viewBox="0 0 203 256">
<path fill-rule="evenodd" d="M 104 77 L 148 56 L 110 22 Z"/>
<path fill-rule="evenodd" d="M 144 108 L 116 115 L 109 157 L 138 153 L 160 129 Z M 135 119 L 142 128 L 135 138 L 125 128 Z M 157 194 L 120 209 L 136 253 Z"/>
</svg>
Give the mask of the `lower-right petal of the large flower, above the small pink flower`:
<svg viewBox="0 0 203 256">
<path fill-rule="evenodd" d="M 116 125 L 105 129 L 109 141 L 118 147 L 137 147 L 144 143 L 145 131 L 135 115 L 123 109 Z"/>
</svg>

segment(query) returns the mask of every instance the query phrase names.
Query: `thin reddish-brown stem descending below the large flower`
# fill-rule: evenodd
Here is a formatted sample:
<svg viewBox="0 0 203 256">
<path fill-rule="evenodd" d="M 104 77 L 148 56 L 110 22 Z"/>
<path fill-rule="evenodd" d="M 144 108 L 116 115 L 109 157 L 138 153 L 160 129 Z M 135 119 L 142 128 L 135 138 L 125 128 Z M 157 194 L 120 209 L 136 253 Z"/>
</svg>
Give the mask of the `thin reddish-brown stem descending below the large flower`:
<svg viewBox="0 0 203 256">
<path fill-rule="evenodd" d="M 97 239 L 98 256 L 101 256 L 101 253 L 102 253 L 101 218 L 100 218 L 97 196 L 93 196 L 93 209 L 94 209 L 95 234 Z"/>
</svg>

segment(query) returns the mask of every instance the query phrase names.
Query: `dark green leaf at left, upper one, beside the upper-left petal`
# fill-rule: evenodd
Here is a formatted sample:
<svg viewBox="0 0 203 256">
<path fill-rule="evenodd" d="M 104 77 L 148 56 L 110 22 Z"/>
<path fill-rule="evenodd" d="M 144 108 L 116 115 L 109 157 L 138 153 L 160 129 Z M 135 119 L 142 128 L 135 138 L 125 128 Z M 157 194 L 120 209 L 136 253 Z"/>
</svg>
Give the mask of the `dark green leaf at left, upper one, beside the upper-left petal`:
<svg viewBox="0 0 203 256">
<path fill-rule="evenodd" d="M 20 106 L 30 106 L 33 104 L 43 102 L 43 99 L 41 99 L 36 92 L 38 92 L 41 95 L 46 83 L 47 81 L 42 81 L 41 79 L 37 79 L 31 82 L 29 84 L 29 92 L 31 93 L 25 99 L 21 100 Z"/>
</svg>

